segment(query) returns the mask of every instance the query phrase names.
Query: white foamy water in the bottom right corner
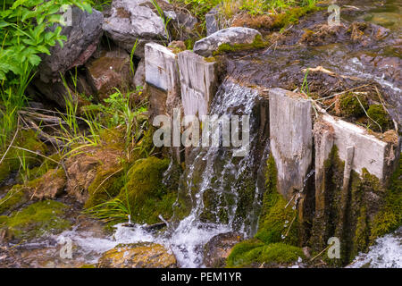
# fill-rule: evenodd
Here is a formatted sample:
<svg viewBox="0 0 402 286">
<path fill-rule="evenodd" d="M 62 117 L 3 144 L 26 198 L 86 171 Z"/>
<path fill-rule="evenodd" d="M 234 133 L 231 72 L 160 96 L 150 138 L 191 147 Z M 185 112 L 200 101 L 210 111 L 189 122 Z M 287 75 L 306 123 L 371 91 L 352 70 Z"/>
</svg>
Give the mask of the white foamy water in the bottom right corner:
<svg viewBox="0 0 402 286">
<path fill-rule="evenodd" d="M 402 268 L 402 227 L 376 240 L 367 253 L 359 254 L 347 268 Z"/>
</svg>

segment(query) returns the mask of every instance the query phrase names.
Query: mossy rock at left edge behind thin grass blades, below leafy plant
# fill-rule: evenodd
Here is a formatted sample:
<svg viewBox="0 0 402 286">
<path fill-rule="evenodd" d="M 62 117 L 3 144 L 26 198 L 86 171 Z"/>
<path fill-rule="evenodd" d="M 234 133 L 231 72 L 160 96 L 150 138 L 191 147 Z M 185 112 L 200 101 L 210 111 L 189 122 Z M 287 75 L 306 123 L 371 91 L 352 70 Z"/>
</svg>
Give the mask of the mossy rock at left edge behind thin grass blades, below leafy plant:
<svg viewBox="0 0 402 286">
<path fill-rule="evenodd" d="M 33 130 L 19 131 L 13 142 L 13 146 L 21 147 L 34 153 L 19 148 L 10 148 L 4 157 L 4 162 L 0 164 L 0 181 L 4 181 L 11 172 L 17 171 L 20 168 L 20 158 L 25 158 L 27 166 L 32 167 L 34 164 L 40 164 L 43 161 L 43 157 L 37 154 L 45 155 L 47 151 L 46 145 L 37 139 Z"/>
</svg>

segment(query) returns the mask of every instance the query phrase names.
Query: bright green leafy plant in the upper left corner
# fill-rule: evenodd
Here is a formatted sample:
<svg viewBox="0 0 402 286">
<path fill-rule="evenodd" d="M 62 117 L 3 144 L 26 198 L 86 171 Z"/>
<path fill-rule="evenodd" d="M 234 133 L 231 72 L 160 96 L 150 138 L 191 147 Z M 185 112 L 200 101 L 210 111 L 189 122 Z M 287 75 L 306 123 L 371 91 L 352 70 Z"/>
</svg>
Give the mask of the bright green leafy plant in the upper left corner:
<svg viewBox="0 0 402 286">
<path fill-rule="evenodd" d="M 75 5 L 90 13 L 91 6 L 78 0 L 3 0 L 0 4 L 0 148 L 4 148 L 25 104 L 24 92 L 41 61 L 39 55 L 50 55 L 51 46 L 63 46 L 66 40 L 61 34 L 61 11 Z"/>
</svg>

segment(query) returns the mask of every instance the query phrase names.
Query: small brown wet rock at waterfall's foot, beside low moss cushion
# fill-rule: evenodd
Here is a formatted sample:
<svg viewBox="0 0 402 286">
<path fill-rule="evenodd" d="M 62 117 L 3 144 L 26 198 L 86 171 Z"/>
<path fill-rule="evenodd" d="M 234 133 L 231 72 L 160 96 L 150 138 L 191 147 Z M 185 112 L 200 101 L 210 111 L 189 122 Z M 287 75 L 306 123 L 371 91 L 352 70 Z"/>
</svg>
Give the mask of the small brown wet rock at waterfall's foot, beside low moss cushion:
<svg viewBox="0 0 402 286">
<path fill-rule="evenodd" d="M 244 240 L 244 235 L 239 232 L 226 232 L 214 236 L 205 244 L 204 265 L 210 268 L 225 267 L 231 248 L 241 240 Z"/>
</svg>

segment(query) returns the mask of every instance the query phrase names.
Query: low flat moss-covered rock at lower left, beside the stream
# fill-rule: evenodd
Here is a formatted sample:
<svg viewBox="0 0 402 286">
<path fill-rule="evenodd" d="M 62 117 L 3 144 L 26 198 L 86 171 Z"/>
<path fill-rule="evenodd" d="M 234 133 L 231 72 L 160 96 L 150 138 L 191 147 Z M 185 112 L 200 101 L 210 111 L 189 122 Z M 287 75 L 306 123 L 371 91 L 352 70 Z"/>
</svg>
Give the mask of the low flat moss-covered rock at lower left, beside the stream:
<svg viewBox="0 0 402 286">
<path fill-rule="evenodd" d="M 63 219 L 68 206 L 54 200 L 34 203 L 8 217 L 3 228 L 8 239 L 30 240 L 46 234 L 57 234 L 70 228 Z"/>
</svg>

